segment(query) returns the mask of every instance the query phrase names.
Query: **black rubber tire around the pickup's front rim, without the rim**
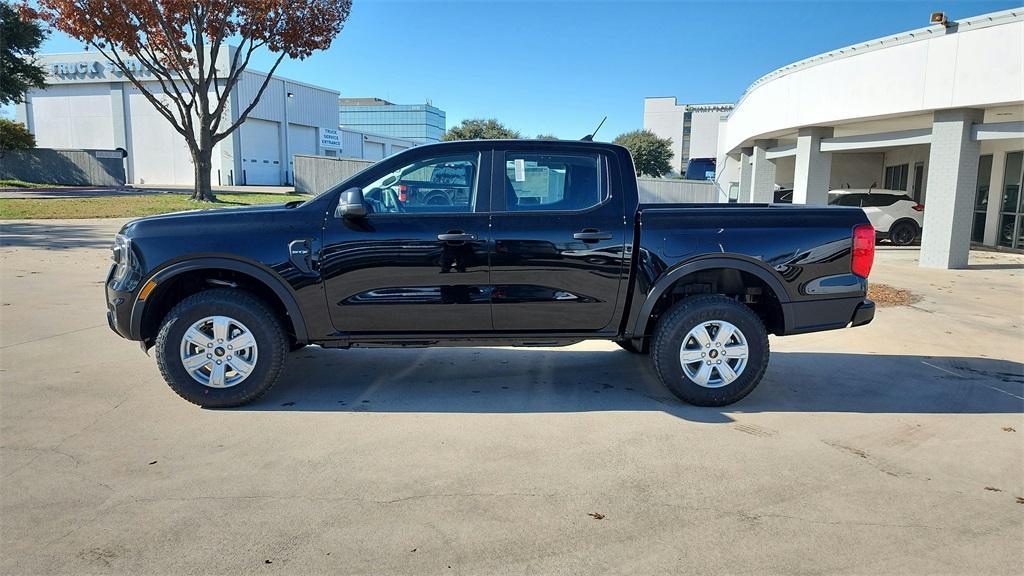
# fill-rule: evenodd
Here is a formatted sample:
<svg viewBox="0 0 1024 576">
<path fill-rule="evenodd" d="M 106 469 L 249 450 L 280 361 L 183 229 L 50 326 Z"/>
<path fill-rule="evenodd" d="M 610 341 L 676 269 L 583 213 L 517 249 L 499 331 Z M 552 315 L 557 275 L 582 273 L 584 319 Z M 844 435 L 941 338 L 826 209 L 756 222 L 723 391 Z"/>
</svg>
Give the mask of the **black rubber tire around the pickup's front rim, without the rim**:
<svg viewBox="0 0 1024 576">
<path fill-rule="evenodd" d="M 194 379 L 182 365 L 185 331 L 210 316 L 226 316 L 243 323 L 256 340 L 255 367 L 248 377 L 230 387 L 207 386 Z M 270 389 L 288 348 L 281 321 L 266 302 L 249 292 L 217 288 L 186 297 L 167 314 L 157 335 L 156 356 L 160 372 L 178 396 L 204 408 L 226 408 L 252 402 Z"/>
</svg>

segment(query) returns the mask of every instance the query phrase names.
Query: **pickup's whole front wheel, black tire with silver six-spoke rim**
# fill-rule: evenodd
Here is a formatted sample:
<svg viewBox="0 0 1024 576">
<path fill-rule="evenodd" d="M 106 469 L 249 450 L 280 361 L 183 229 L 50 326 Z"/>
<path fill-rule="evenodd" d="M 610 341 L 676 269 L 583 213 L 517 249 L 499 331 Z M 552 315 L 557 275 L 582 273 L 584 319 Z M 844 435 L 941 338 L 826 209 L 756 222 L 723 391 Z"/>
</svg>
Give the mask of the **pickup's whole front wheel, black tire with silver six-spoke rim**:
<svg viewBox="0 0 1024 576">
<path fill-rule="evenodd" d="M 288 354 L 273 311 L 234 289 L 178 302 L 157 335 L 157 365 L 178 396 L 207 408 L 240 406 L 270 389 Z"/>
</svg>

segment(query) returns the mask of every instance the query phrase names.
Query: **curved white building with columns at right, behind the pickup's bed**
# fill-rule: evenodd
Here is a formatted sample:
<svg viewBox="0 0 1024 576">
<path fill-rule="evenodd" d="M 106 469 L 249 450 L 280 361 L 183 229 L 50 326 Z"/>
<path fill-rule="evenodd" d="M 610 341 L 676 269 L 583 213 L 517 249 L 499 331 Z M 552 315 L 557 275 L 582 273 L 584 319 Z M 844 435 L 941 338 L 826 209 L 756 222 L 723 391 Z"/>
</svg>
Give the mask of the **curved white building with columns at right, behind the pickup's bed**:
<svg viewBox="0 0 1024 576">
<path fill-rule="evenodd" d="M 723 120 L 718 180 L 741 202 L 894 188 L 926 204 L 921 263 L 971 241 L 1024 248 L 1024 9 L 840 48 L 756 81 Z"/>
</svg>

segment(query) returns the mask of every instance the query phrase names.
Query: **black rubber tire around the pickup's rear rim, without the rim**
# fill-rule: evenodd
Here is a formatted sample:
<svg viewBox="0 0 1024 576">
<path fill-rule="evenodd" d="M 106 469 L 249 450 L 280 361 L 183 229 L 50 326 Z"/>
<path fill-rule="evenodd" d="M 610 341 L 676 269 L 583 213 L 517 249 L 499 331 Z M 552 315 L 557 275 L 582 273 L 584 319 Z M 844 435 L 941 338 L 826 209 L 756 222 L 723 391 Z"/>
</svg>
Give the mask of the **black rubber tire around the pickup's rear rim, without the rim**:
<svg viewBox="0 0 1024 576">
<path fill-rule="evenodd" d="M 742 333 L 748 358 L 746 365 L 731 383 L 707 387 L 687 376 L 680 351 L 691 330 L 715 321 L 728 322 Z M 768 332 L 754 311 L 731 298 L 714 295 L 686 298 L 662 316 L 654 329 L 650 358 L 662 383 L 683 402 L 696 406 L 725 406 L 749 395 L 761 382 L 768 368 Z M 724 380 L 720 373 L 719 378 Z"/>
</svg>

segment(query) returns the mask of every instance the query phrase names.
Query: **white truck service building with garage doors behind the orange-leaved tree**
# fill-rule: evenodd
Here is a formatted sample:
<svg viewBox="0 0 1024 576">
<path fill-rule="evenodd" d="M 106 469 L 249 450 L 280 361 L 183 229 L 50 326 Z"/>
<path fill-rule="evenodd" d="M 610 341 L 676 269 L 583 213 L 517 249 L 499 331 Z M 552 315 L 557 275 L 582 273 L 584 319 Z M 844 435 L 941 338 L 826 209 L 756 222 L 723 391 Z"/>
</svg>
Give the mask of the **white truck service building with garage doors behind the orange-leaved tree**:
<svg viewBox="0 0 1024 576">
<path fill-rule="evenodd" d="M 229 68 L 231 52 L 219 68 Z M 184 138 L 127 77 L 92 52 L 40 56 L 49 72 L 46 89 L 32 90 L 16 116 L 40 148 L 124 149 L 128 181 L 191 184 L 195 174 Z M 137 64 L 137 63 L 136 63 Z M 140 78 L 146 72 L 138 67 Z M 266 74 L 245 71 L 230 96 L 231 122 L 253 99 Z M 146 87 L 160 93 L 159 83 Z M 338 129 L 338 92 L 274 76 L 259 104 L 213 151 L 217 184 L 284 184 L 293 178 L 295 154 L 379 159 L 413 142 Z M 393 147 L 393 148 L 392 148 Z"/>
</svg>

